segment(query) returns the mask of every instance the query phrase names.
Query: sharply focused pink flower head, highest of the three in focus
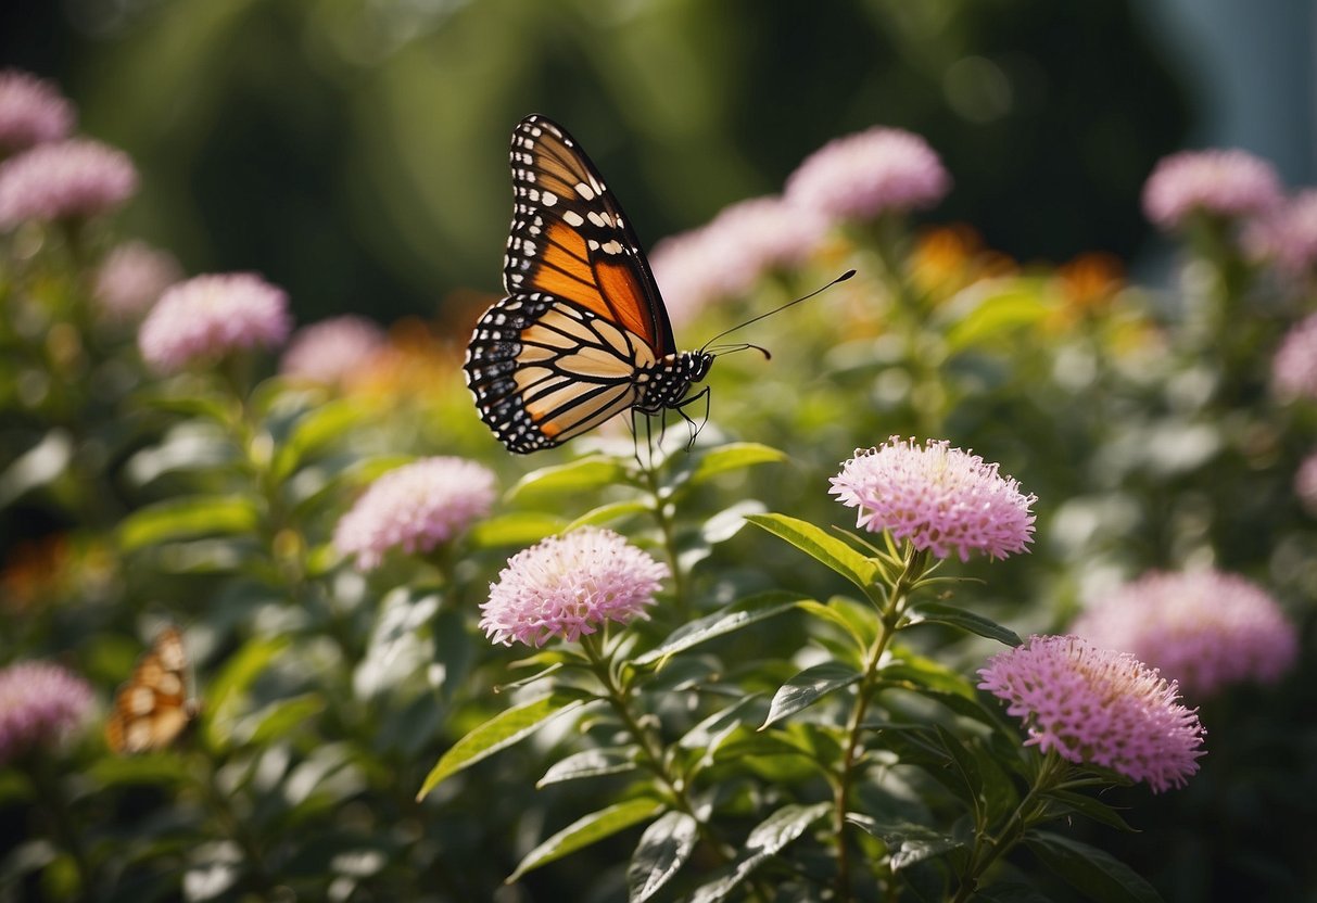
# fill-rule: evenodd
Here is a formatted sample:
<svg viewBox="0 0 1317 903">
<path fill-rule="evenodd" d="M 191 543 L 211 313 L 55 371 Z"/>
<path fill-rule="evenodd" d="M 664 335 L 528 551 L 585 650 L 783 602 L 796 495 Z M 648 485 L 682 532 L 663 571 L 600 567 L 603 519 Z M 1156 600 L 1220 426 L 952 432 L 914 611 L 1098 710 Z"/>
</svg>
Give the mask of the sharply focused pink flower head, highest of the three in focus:
<svg viewBox="0 0 1317 903">
<path fill-rule="evenodd" d="M 1017 480 L 997 473 L 997 465 L 946 440 L 919 446 L 893 436 L 876 449 L 856 452 L 832 478 L 831 494 L 859 509 L 856 527 L 888 530 L 938 558 L 956 553 L 968 561 L 972 552 L 1005 558 L 1033 541 L 1029 508 L 1038 496 L 1023 495 Z"/>
</svg>

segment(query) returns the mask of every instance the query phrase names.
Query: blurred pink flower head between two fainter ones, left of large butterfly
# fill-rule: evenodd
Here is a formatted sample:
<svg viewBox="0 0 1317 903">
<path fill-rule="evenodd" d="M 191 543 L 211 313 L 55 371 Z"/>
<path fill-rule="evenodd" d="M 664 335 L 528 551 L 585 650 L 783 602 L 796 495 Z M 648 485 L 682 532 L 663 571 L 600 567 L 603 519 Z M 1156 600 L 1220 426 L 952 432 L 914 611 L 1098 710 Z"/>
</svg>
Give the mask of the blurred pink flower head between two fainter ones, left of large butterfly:
<svg viewBox="0 0 1317 903">
<path fill-rule="evenodd" d="M 211 363 L 249 348 L 282 345 L 292 329 L 288 296 L 253 272 L 194 276 L 171 286 L 137 333 L 159 373 Z"/>
</svg>

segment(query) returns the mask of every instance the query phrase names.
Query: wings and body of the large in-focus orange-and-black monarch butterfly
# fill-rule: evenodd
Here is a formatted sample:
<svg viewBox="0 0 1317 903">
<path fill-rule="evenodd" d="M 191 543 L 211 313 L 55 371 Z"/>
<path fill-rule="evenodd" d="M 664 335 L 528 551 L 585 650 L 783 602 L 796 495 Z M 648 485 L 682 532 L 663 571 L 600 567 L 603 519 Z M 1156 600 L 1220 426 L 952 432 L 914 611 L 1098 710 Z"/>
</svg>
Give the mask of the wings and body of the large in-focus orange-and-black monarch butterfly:
<svg viewBox="0 0 1317 903">
<path fill-rule="evenodd" d="M 512 133 L 507 296 L 475 324 L 466 383 L 511 452 L 553 448 L 635 409 L 680 408 L 712 365 L 677 351 L 644 251 L 576 141 L 543 116 Z"/>
</svg>

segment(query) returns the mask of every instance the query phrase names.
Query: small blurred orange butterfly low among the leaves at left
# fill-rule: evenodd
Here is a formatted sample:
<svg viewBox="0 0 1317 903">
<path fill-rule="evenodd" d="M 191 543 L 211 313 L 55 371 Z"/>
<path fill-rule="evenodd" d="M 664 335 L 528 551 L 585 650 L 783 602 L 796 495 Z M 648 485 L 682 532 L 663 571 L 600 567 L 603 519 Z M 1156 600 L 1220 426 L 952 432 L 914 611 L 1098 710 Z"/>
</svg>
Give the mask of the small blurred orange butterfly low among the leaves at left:
<svg viewBox="0 0 1317 903">
<path fill-rule="evenodd" d="M 183 636 L 167 627 L 119 688 L 105 721 L 105 742 L 121 756 L 163 749 L 195 716 L 196 702 L 188 699 Z"/>
</svg>

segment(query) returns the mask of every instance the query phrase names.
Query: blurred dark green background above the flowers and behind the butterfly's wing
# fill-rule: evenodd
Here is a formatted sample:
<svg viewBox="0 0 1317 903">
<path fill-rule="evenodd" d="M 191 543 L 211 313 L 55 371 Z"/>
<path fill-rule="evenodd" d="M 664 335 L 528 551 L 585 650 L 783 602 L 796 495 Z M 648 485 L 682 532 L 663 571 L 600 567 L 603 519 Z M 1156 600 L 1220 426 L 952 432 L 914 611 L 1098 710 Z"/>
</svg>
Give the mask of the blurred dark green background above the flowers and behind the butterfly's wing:
<svg viewBox="0 0 1317 903">
<path fill-rule="evenodd" d="M 192 272 L 263 272 L 302 321 L 389 321 L 498 291 L 531 112 L 582 140 L 651 246 L 881 122 L 943 155 L 939 221 L 1022 261 L 1129 259 L 1142 180 L 1187 142 L 1310 179 L 1312 20 L 1291 0 L 63 0 L 8 4 L 0 53 L 138 162 L 128 232 Z"/>
</svg>

